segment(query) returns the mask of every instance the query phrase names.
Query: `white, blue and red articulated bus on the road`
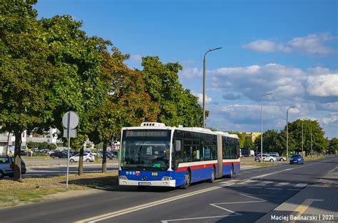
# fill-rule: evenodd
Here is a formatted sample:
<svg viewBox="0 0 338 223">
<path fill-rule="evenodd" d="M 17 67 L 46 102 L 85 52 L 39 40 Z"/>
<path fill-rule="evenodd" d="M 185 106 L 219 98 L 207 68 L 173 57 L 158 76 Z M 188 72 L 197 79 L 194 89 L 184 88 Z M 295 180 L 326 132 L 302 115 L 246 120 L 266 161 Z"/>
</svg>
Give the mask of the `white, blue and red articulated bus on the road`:
<svg viewBox="0 0 338 223">
<path fill-rule="evenodd" d="M 121 130 L 119 185 L 187 188 L 239 171 L 237 135 L 156 122 Z"/>
</svg>

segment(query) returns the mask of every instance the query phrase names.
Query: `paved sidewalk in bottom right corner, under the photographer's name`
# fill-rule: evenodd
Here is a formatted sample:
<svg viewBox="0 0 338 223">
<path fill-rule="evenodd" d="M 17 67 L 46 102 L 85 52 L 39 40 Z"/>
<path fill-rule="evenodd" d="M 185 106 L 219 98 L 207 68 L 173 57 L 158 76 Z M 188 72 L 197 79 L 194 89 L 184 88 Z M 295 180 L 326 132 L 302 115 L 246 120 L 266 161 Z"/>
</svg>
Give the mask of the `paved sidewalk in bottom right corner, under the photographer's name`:
<svg viewBox="0 0 338 223">
<path fill-rule="evenodd" d="M 338 166 L 256 222 L 338 222 Z"/>
</svg>

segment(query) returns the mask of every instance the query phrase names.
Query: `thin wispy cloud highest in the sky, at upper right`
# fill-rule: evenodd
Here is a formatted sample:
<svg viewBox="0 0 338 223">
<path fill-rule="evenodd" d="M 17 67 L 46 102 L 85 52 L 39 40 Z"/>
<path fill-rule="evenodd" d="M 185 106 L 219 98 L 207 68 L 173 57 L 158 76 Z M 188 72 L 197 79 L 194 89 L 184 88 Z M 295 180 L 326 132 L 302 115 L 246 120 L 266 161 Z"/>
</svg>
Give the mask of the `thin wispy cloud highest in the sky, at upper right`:
<svg viewBox="0 0 338 223">
<path fill-rule="evenodd" d="M 293 38 L 288 43 L 275 43 L 272 40 L 255 40 L 252 43 L 242 45 L 242 48 L 248 48 L 257 52 L 273 53 L 302 53 L 305 55 L 329 55 L 335 53 L 333 48 L 330 48 L 324 43 L 332 40 L 337 40 L 336 37 L 329 33 L 309 34 Z"/>
</svg>

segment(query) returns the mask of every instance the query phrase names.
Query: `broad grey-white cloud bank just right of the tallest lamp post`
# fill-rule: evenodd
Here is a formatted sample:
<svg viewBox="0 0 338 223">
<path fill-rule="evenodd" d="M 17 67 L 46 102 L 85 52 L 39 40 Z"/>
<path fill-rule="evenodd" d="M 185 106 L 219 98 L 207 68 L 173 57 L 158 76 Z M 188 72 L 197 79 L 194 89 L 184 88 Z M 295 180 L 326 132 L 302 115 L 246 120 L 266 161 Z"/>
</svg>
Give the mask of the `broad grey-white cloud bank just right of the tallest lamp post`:
<svg viewBox="0 0 338 223">
<path fill-rule="evenodd" d="M 247 67 L 222 67 L 209 71 L 217 81 L 212 82 L 212 90 L 227 93 L 239 91 L 240 94 L 254 101 L 266 92 L 274 92 L 273 97 L 296 97 L 304 94 L 302 82 L 306 73 L 299 68 L 279 64 L 264 66 L 251 65 Z"/>
</svg>

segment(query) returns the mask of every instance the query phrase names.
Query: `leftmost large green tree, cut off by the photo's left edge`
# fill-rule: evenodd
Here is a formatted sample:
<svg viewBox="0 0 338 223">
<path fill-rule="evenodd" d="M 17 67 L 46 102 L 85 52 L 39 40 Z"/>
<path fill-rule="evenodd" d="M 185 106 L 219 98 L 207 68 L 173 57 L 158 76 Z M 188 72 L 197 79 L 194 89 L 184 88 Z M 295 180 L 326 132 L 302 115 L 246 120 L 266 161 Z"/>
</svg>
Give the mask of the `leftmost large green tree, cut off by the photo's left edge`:
<svg viewBox="0 0 338 223">
<path fill-rule="evenodd" d="M 52 118 L 50 50 L 33 0 L 0 4 L 0 124 L 15 136 L 14 179 L 21 180 L 21 134 Z"/>
</svg>

